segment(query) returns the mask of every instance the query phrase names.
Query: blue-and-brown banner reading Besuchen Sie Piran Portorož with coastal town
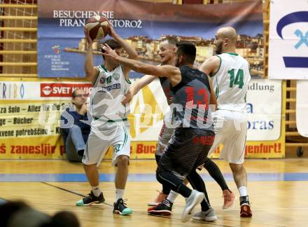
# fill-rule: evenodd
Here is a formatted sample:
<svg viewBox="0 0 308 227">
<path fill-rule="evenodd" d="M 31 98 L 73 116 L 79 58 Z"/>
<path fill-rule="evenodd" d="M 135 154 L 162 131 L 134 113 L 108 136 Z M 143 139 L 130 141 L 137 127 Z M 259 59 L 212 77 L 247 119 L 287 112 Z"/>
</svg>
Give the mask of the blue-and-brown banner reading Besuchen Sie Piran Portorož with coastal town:
<svg viewBox="0 0 308 227">
<path fill-rule="evenodd" d="M 237 53 L 246 57 L 251 74 L 263 74 L 262 1 L 232 4 L 179 5 L 134 0 L 38 0 L 38 75 L 85 77 L 86 43 L 83 27 L 87 18 L 108 18 L 139 58 L 159 64 L 159 41 L 175 36 L 197 47 L 196 63 L 213 55 L 219 27 L 237 29 Z M 106 36 L 106 39 L 109 39 Z M 94 65 L 102 64 L 100 41 L 93 43 Z M 131 73 L 131 78 L 141 74 Z"/>
</svg>

